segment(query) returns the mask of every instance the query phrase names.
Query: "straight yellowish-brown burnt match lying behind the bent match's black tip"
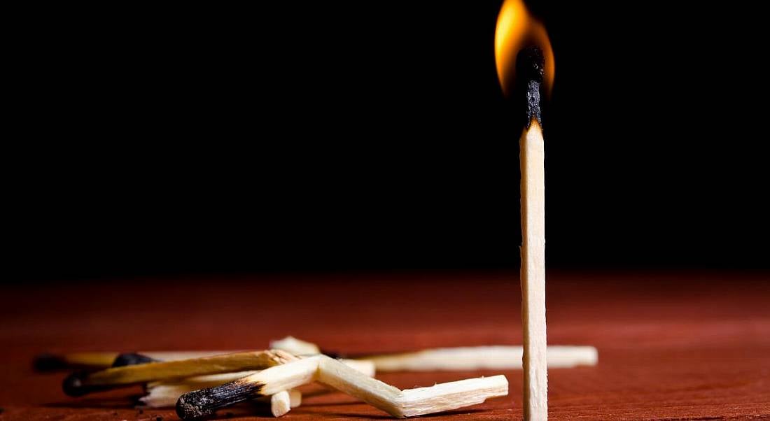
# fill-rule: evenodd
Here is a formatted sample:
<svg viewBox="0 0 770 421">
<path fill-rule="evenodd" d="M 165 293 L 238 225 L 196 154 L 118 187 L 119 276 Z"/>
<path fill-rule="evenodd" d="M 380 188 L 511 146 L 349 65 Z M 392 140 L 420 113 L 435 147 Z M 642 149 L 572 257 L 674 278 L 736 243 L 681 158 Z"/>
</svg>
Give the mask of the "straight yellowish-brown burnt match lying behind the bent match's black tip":
<svg viewBox="0 0 770 421">
<path fill-rule="evenodd" d="M 276 349 L 146 363 L 109 368 L 95 373 L 74 373 L 64 380 L 62 386 L 67 395 L 82 396 L 121 385 L 266 369 L 296 359 L 296 356 Z"/>
</svg>

